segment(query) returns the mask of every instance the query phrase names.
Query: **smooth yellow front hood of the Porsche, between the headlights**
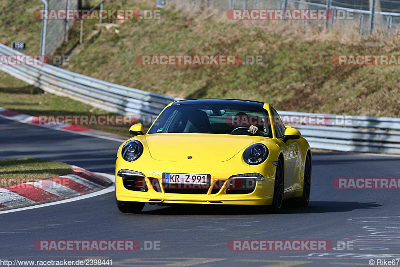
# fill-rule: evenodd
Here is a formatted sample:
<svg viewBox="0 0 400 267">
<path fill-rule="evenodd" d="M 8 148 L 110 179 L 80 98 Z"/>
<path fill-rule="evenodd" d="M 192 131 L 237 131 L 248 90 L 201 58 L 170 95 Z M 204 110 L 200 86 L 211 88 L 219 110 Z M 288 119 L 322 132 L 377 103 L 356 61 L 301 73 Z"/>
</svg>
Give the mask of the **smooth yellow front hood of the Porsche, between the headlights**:
<svg viewBox="0 0 400 267">
<path fill-rule="evenodd" d="M 146 135 L 145 139 L 150 155 L 155 160 L 221 162 L 264 138 L 228 134 L 161 133 Z"/>
</svg>

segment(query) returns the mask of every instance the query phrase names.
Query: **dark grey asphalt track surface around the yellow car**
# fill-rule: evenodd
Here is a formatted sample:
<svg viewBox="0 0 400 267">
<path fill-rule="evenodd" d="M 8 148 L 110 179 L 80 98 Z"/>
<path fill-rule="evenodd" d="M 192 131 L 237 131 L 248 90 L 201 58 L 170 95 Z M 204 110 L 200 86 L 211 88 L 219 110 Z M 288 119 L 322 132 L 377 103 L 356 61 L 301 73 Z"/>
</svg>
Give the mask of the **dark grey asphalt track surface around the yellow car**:
<svg viewBox="0 0 400 267">
<path fill-rule="evenodd" d="M 0 158 L 37 157 L 112 174 L 119 142 L 0 118 Z M 113 266 L 369 266 L 400 259 L 398 189 L 335 189 L 334 178 L 400 178 L 400 157 L 313 153 L 307 207 L 150 206 L 121 213 L 114 193 L 0 214 L 0 259 L 112 259 Z M 37 251 L 36 240 L 159 241 L 159 250 Z M 329 251 L 230 251 L 229 240 L 353 241 Z M 400 262 L 397 263 L 400 265 Z"/>
</svg>

